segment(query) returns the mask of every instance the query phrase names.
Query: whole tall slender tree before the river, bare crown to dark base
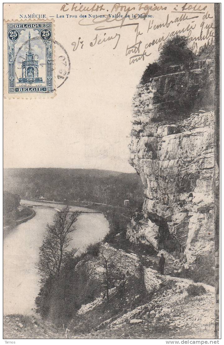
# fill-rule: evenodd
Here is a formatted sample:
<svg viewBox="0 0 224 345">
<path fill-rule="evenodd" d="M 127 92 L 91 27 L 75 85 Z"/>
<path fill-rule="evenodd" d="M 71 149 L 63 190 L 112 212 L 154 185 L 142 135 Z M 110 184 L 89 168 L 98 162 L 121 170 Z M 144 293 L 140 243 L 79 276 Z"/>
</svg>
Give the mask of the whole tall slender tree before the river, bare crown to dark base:
<svg viewBox="0 0 224 345">
<path fill-rule="evenodd" d="M 77 264 L 74 259 L 77 249 L 67 248 L 80 214 L 79 211 L 69 212 L 68 206 L 55 214 L 53 223 L 46 226 L 47 234 L 40 247 L 37 263 L 41 276 L 40 292 L 35 299 L 37 312 L 44 318 L 50 317 L 57 322 L 61 320 L 63 328 L 67 318 L 70 283 L 70 279 L 65 279 L 64 272 Z"/>
</svg>

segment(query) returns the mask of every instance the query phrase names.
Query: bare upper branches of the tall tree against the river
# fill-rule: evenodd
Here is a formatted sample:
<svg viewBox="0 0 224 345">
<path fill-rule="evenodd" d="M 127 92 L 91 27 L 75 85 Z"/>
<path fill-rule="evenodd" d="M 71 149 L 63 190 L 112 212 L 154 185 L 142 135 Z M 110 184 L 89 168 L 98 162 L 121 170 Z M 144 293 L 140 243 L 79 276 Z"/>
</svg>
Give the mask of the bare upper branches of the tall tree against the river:
<svg viewBox="0 0 224 345">
<path fill-rule="evenodd" d="M 61 267 L 68 254 L 74 256 L 77 249 L 67 250 L 75 222 L 81 212 L 69 212 L 69 207 L 55 214 L 53 224 L 47 224 L 47 235 L 40 247 L 37 268 L 43 280 L 60 275 Z"/>
</svg>

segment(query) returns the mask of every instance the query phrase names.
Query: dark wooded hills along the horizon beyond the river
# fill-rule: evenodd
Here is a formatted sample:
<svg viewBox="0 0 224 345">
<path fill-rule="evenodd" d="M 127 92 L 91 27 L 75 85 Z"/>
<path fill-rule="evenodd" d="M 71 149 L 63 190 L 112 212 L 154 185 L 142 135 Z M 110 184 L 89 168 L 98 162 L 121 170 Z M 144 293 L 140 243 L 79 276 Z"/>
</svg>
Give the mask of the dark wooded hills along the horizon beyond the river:
<svg viewBox="0 0 224 345">
<path fill-rule="evenodd" d="M 10 168 L 3 171 L 3 189 L 21 198 L 84 200 L 122 206 L 143 202 L 140 177 L 98 169 Z"/>
</svg>

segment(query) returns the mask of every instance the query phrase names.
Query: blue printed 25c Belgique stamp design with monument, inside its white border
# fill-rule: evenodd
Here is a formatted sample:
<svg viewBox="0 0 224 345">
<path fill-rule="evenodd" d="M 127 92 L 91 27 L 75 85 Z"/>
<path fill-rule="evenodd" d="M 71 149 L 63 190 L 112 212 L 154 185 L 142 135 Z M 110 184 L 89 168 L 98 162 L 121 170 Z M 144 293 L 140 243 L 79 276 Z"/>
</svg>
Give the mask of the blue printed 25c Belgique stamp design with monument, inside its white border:
<svg viewBox="0 0 224 345">
<path fill-rule="evenodd" d="M 54 91 L 52 36 L 52 22 L 7 23 L 9 93 Z"/>
</svg>

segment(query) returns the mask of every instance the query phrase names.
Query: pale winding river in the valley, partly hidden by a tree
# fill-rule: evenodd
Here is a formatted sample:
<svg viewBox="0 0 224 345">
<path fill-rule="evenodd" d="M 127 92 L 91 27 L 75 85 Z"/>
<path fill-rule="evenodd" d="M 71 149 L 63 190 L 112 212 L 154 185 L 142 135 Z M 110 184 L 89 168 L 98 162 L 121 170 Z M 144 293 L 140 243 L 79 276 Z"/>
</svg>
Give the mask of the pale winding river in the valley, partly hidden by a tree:
<svg viewBox="0 0 224 345">
<path fill-rule="evenodd" d="M 3 239 L 3 293 L 4 314 L 30 314 L 39 292 L 39 275 L 35 264 L 39 247 L 45 234 L 45 226 L 51 223 L 57 209 L 65 205 L 21 200 L 21 204 L 35 205 L 35 217 L 13 228 Z M 71 211 L 96 212 L 71 206 Z M 75 223 L 69 248 L 82 252 L 90 243 L 98 242 L 109 231 L 109 223 L 103 214 L 84 213 Z"/>
</svg>

